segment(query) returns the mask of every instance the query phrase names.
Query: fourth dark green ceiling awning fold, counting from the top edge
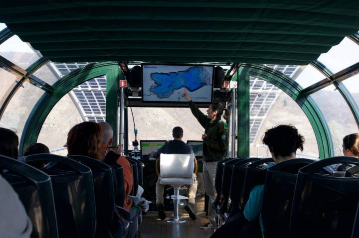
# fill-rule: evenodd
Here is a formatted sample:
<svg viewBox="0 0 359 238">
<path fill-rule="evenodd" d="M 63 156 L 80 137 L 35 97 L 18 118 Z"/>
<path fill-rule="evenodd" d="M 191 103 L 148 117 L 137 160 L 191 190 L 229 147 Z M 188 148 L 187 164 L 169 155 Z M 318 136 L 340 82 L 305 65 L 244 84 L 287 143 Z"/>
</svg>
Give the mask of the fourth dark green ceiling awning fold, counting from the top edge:
<svg viewBox="0 0 359 238">
<path fill-rule="evenodd" d="M 105 37 L 106 36 L 106 37 Z M 51 35 L 30 35 L 21 36 L 25 42 L 33 43 L 52 43 L 52 42 L 75 42 L 75 41 L 122 41 L 140 40 L 140 41 L 160 41 L 162 44 L 166 41 L 178 42 L 253 42 L 253 43 L 279 43 L 279 44 L 297 44 L 297 45 L 314 45 L 314 46 L 333 46 L 339 44 L 343 37 L 330 36 L 312 36 L 312 35 L 285 35 L 285 34 L 257 34 L 257 33 L 221 33 L 213 34 L 207 32 L 191 32 L 183 34 L 182 32 L 81 32 L 71 33 L 71 37 L 66 34 Z M 110 44 L 108 45 L 110 46 Z"/>
</svg>

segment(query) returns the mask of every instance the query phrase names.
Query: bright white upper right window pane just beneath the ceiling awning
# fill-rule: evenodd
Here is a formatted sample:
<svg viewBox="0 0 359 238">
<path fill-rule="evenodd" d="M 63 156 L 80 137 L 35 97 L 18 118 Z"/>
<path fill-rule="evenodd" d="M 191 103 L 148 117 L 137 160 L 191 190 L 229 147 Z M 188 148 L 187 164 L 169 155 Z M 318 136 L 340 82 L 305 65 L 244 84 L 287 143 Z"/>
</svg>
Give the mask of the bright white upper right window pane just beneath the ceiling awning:
<svg viewBox="0 0 359 238">
<path fill-rule="evenodd" d="M 346 37 L 339 45 L 333 46 L 327 53 L 321 54 L 318 60 L 333 73 L 337 73 L 359 62 L 359 45 Z"/>
</svg>

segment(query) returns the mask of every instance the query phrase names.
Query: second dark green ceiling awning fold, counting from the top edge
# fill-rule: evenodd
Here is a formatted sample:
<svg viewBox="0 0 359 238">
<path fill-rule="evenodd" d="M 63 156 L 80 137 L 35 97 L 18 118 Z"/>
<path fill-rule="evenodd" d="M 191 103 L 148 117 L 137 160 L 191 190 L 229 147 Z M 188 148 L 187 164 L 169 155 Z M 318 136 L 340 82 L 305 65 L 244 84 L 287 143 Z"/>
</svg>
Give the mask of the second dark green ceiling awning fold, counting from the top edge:
<svg viewBox="0 0 359 238">
<path fill-rule="evenodd" d="M 331 26 L 343 28 L 355 28 L 359 16 L 332 15 L 328 13 L 283 10 L 283 9 L 260 9 L 260 8 L 188 8 L 177 7 L 143 7 L 137 6 L 100 6 L 90 8 L 82 12 L 83 7 L 66 9 L 58 15 L 58 9 L 47 11 L 34 11 L 31 16 L 21 14 L 13 18 L 12 14 L 2 14 L 1 18 L 7 23 L 31 22 L 53 22 L 53 21 L 74 21 L 74 20 L 106 20 L 111 15 L 112 20 L 180 20 L 180 21 L 233 21 L 244 22 L 278 22 L 306 24 L 315 26 Z M 119 14 L 121 12 L 121 14 Z M 183 15 L 183 12 L 186 12 Z M 311 18 L 309 18 L 311 17 Z"/>
</svg>

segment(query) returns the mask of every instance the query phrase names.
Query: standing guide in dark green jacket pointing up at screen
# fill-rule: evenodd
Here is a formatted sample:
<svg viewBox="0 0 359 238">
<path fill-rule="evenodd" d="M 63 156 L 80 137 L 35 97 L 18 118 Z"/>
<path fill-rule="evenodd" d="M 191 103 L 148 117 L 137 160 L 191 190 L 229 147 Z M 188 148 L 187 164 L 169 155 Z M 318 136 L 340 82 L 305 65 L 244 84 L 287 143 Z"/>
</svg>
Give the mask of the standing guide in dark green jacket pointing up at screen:
<svg viewBox="0 0 359 238">
<path fill-rule="evenodd" d="M 217 162 L 222 160 L 228 148 L 229 132 L 227 124 L 221 120 L 224 106 L 221 103 L 212 103 L 207 109 L 207 115 L 204 115 L 192 102 L 184 90 L 182 97 L 188 101 L 189 108 L 193 116 L 203 126 L 203 178 L 205 192 L 211 199 L 208 203 L 208 217 L 210 222 L 201 226 L 202 229 L 214 228 L 214 212 L 212 203 L 216 197 L 214 179 Z"/>
</svg>

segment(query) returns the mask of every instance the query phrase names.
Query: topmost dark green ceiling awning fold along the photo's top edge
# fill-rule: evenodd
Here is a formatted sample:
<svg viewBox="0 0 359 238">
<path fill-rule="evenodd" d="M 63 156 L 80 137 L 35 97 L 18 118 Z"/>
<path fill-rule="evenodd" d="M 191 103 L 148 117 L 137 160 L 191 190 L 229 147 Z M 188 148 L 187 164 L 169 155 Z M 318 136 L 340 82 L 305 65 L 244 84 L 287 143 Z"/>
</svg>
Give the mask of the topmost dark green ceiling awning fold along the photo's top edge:
<svg viewBox="0 0 359 238">
<path fill-rule="evenodd" d="M 348 4 L 351 3 L 351 4 Z M 355 2 L 342 1 L 313 1 L 313 0 L 151 0 L 151 1 L 128 1 L 128 0 L 33 0 L 27 4 L 18 4 L 16 1 L 1 3 L 1 14 L 23 13 L 36 10 L 65 10 L 73 7 L 99 7 L 99 6 L 172 6 L 172 7 L 213 7 L 213 8 L 272 8 L 286 10 L 301 10 L 308 12 L 330 13 L 358 16 L 358 6 L 353 7 Z"/>
</svg>

